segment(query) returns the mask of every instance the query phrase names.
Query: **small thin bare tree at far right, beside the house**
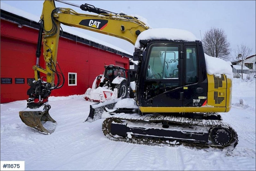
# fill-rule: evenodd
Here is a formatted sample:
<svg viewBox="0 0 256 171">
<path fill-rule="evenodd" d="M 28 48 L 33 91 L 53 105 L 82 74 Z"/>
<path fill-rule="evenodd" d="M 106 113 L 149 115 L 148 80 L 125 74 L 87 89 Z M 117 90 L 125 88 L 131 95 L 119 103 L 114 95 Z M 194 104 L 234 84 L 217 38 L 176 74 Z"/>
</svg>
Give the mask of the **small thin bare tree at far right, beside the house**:
<svg viewBox="0 0 256 171">
<path fill-rule="evenodd" d="M 241 66 L 241 74 L 243 79 L 243 67 L 244 67 L 244 60 L 252 53 L 252 48 L 249 48 L 244 43 L 237 45 L 237 49 L 235 52 L 236 61 Z"/>
</svg>

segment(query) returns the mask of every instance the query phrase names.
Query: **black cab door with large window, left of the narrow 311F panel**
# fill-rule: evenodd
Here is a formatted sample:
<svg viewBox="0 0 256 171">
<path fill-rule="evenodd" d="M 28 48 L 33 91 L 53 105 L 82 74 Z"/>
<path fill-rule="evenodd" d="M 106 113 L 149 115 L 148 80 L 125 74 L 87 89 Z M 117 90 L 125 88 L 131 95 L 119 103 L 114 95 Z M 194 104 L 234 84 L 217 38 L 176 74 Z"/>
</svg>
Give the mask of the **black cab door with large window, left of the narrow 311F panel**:
<svg viewBox="0 0 256 171">
<path fill-rule="evenodd" d="M 143 107 L 183 105 L 183 43 L 151 43 L 140 64 L 136 98 Z"/>
</svg>

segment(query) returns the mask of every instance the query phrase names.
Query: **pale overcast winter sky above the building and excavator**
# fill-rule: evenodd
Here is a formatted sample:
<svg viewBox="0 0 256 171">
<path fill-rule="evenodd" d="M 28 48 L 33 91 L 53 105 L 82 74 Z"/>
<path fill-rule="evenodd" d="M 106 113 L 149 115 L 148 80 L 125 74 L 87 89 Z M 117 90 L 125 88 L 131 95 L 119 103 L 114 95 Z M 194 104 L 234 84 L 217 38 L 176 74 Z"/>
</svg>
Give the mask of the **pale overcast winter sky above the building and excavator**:
<svg viewBox="0 0 256 171">
<path fill-rule="evenodd" d="M 1 1 L 41 16 L 44 1 Z M 177 28 L 188 30 L 199 40 L 211 27 L 223 29 L 230 42 L 230 58 L 234 57 L 237 45 L 244 43 L 256 50 L 256 1 L 70 1 L 73 4 L 84 3 L 94 5 L 107 11 L 127 15 L 139 15 L 147 19 L 151 28 Z M 72 8 L 76 12 L 79 8 L 56 2 L 56 7 Z M 39 20 L 39 18 L 38 18 Z M 134 46 L 116 37 L 95 33 L 88 30 L 74 28 L 94 38 L 111 43 L 133 54 Z"/>
</svg>

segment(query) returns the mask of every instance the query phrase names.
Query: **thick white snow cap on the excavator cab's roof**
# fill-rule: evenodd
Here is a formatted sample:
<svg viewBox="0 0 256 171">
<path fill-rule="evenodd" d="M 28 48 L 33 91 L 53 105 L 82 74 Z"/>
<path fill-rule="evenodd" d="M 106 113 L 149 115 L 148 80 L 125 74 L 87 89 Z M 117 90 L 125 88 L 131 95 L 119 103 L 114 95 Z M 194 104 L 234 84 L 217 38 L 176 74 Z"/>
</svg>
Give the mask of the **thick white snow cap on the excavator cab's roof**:
<svg viewBox="0 0 256 171">
<path fill-rule="evenodd" d="M 191 42 L 200 40 L 196 38 L 194 34 L 187 30 L 181 30 L 176 28 L 151 28 L 140 33 L 136 40 L 135 48 L 140 47 L 140 40 L 149 39 L 184 40 Z"/>
</svg>

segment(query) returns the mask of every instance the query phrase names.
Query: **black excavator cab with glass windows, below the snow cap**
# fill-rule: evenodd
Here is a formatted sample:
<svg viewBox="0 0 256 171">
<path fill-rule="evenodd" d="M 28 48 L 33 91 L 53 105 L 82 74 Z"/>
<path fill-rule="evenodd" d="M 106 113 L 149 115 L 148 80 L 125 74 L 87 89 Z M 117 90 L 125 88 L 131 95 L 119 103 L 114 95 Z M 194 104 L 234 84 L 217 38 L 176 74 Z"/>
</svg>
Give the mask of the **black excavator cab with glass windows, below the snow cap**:
<svg viewBox="0 0 256 171">
<path fill-rule="evenodd" d="M 198 97 L 207 97 L 201 42 L 151 41 L 145 49 L 148 51 L 142 54 L 140 77 L 137 77 L 136 97 L 140 109 L 147 112 L 152 107 L 163 107 L 168 111 L 172 107 L 201 107 L 204 104 L 206 98 L 193 102 Z"/>
</svg>

